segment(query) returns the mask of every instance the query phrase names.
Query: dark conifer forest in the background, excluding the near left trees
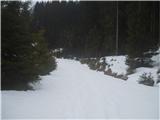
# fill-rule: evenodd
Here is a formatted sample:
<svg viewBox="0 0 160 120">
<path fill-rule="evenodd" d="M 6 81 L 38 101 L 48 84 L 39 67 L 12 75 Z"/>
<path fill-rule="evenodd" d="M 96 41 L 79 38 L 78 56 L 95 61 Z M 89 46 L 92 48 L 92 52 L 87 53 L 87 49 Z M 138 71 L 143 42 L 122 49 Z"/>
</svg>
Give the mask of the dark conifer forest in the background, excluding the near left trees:
<svg viewBox="0 0 160 120">
<path fill-rule="evenodd" d="M 49 48 L 64 48 L 65 55 L 115 55 L 118 34 L 118 54 L 139 57 L 157 46 L 159 2 L 39 2 L 33 26 L 45 30 Z"/>
</svg>

